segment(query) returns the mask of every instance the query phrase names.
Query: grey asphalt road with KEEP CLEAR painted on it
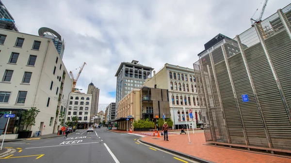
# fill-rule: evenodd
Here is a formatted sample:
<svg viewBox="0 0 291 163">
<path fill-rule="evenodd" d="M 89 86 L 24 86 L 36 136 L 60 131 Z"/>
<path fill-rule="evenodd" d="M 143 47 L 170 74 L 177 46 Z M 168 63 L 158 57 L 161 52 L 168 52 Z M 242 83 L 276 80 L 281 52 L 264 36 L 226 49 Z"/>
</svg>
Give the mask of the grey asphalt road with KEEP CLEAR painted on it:
<svg viewBox="0 0 291 163">
<path fill-rule="evenodd" d="M 186 163 L 183 158 L 138 144 L 139 138 L 102 128 L 89 133 L 78 130 L 68 138 L 8 142 L 3 147 L 17 151 L 1 158 L 0 163 Z"/>
</svg>

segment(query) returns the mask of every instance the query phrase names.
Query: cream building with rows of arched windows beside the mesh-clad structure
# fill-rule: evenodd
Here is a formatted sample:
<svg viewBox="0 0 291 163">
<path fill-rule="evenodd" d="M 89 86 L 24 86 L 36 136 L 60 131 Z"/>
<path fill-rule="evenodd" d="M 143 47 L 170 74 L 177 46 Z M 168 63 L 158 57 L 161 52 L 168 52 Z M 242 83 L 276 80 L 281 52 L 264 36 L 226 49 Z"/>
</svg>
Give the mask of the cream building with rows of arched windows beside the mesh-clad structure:
<svg viewBox="0 0 291 163">
<path fill-rule="evenodd" d="M 194 70 L 166 63 L 164 67 L 150 79 L 146 80 L 144 86 L 156 87 L 158 89 L 168 89 L 169 105 L 171 108 L 171 119 L 174 121 L 174 127 L 186 124 L 189 127 L 196 127 L 196 124 L 202 123 L 201 110 L 199 107 L 196 80 Z M 183 111 L 186 107 L 186 112 Z M 189 109 L 193 110 L 192 124 Z"/>
</svg>

